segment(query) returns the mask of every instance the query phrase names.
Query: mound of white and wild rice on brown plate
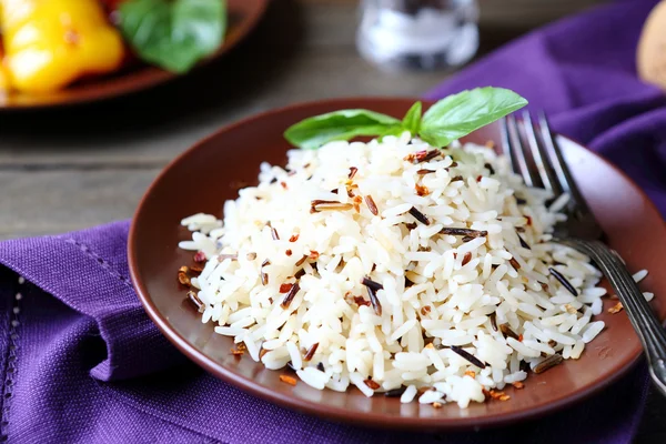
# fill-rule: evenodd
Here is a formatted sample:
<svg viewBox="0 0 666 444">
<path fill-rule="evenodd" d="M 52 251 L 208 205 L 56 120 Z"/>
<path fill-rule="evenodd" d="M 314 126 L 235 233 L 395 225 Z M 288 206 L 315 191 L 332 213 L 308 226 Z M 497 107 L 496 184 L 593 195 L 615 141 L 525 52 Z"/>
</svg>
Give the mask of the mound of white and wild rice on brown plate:
<svg viewBox="0 0 666 444">
<path fill-rule="evenodd" d="M 492 149 L 405 133 L 287 154 L 223 221 L 182 221 L 180 246 L 206 259 L 191 282 L 202 322 L 266 367 L 464 408 L 604 329 L 599 272 L 549 242 L 566 198 L 547 206 Z"/>
</svg>

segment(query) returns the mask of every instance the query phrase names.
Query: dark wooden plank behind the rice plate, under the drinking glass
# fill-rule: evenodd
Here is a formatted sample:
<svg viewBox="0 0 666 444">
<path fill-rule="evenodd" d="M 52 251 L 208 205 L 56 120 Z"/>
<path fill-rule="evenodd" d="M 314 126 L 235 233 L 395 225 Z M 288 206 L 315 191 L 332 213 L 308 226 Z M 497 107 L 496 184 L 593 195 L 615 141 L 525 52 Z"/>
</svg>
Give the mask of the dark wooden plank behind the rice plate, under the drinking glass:
<svg viewBox="0 0 666 444">
<path fill-rule="evenodd" d="M 273 2 L 258 32 L 238 51 L 163 88 L 91 107 L 3 115 L 0 168 L 154 168 L 219 127 L 255 112 L 330 97 L 418 95 L 447 77 L 379 71 L 356 54 L 355 2 L 301 1 Z M 514 8 L 484 2 L 482 12 L 521 18 L 529 10 L 528 16 L 543 19 L 591 2 L 542 0 L 538 8 L 529 7 L 534 0 L 511 0 Z M 512 9 L 516 16 L 506 12 Z M 491 22 L 531 23 L 521 20 Z M 487 31 L 482 34 L 484 50 L 516 32 L 522 31 Z"/>
</svg>

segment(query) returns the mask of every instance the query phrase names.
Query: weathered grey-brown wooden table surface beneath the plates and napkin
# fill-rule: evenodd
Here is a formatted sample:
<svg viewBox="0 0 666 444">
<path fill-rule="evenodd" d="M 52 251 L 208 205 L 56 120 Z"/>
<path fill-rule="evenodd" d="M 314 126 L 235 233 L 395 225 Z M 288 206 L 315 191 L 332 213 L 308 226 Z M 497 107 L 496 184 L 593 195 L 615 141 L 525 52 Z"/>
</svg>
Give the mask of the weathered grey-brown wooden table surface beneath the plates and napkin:
<svg viewBox="0 0 666 444">
<path fill-rule="evenodd" d="M 481 0 L 481 51 L 602 0 Z M 444 72 L 390 74 L 354 47 L 355 0 L 275 0 L 256 31 L 205 69 L 92 105 L 0 112 L 0 239 L 127 219 L 178 153 L 239 118 L 343 95 L 413 95 Z M 637 442 L 666 443 L 650 394 Z"/>
</svg>

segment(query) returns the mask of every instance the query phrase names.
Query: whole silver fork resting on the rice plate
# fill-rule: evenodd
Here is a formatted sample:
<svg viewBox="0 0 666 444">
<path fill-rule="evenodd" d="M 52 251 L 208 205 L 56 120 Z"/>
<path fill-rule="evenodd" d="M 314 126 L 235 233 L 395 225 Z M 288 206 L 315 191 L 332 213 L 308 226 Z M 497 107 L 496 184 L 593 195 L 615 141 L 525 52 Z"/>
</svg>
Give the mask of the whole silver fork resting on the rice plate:
<svg viewBox="0 0 666 444">
<path fill-rule="evenodd" d="M 554 198 L 569 194 L 565 210 L 567 221 L 556 226 L 554 240 L 588 255 L 604 273 L 640 339 L 655 385 L 666 395 L 666 331 L 617 252 L 599 241 L 604 234 L 602 228 L 567 168 L 546 115 L 539 113 L 537 119 L 538 125 L 532 122 L 527 111 L 522 121 L 514 115 L 503 119 L 504 152 L 511 159 L 514 172 L 522 175 L 528 186 L 543 185 Z"/>
</svg>

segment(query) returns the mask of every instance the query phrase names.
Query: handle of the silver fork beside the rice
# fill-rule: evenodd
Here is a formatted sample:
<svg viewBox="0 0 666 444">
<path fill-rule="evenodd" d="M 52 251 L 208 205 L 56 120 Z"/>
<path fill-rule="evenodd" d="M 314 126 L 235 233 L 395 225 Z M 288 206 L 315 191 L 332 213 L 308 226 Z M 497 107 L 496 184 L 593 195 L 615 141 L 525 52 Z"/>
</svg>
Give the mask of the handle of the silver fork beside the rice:
<svg viewBox="0 0 666 444">
<path fill-rule="evenodd" d="M 619 255 L 599 241 L 566 239 L 559 242 L 591 256 L 608 279 L 643 343 L 652 379 L 666 396 L 666 331 Z"/>
</svg>

